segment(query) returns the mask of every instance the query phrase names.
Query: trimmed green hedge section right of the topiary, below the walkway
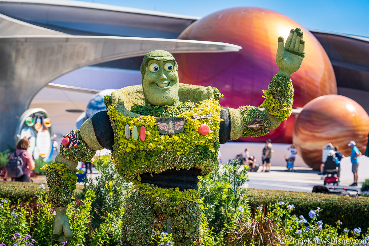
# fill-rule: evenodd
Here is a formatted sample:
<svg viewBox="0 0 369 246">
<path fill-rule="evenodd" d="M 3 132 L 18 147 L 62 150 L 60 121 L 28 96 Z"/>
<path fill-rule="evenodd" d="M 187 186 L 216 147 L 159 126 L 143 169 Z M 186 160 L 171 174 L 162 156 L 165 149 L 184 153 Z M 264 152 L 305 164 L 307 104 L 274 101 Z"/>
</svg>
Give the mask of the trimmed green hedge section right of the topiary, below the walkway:
<svg viewBox="0 0 369 246">
<path fill-rule="evenodd" d="M 320 207 L 322 211 L 318 219 L 324 224 L 335 225 L 340 220 L 342 228 L 352 230 L 360 227 L 363 233 L 369 228 L 369 198 L 252 188 L 248 189 L 246 197 L 251 207 L 257 207 L 263 202 L 267 205 L 279 201 L 289 202 L 295 205 L 293 214 L 302 214 L 305 218 L 309 218 L 310 210 Z"/>
</svg>

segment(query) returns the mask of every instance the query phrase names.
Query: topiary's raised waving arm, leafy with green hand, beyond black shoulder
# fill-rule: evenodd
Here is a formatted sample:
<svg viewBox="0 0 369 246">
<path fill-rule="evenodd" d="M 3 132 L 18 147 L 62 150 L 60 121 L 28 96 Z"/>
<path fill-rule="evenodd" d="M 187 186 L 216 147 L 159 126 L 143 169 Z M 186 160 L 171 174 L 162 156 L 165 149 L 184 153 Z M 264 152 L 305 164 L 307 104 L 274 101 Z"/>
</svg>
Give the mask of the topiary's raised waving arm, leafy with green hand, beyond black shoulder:
<svg viewBox="0 0 369 246">
<path fill-rule="evenodd" d="M 265 100 L 260 107 L 242 106 L 228 108 L 231 121 L 230 139 L 241 136 L 263 136 L 269 129 L 277 128 L 292 111 L 293 86 L 290 75 L 296 72 L 305 57 L 305 42 L 300 28 L 292 29 L 284 44 L 283 37 L 278 38 L 276 62 L 279 72 L 273 77 L 268 90 L 263 90 Z"/>
</svg>

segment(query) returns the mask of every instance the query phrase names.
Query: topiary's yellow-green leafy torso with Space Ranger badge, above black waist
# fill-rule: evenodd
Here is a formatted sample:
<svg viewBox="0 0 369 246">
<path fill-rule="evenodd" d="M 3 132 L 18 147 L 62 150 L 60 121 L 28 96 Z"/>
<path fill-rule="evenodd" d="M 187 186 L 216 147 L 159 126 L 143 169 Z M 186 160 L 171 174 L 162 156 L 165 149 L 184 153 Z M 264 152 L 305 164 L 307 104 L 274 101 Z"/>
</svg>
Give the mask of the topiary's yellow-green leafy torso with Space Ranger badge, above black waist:
<svg viewBox="0 0 369 246">
<path fill-rule="evenodd" d="M 194 105 L 193 108 L 191 105 Z M 114 104 L 107 107 L 108 115 L 112 121 L 114 131 L 114 145 L 112 157 L 118 170 L 126 181 L 135 180 L 141 173 L 161 173 L 168 169 L 190 169 L 197 167 L 202 175 L 206 175 L 217 161 L 219 149 L 220 110 L 218 100 L 207 99 L 199 104 L 189 103 L 184 105 L 186 112 L 165 117 L 184 117 L 184 132 L 177 134 L 159 134 L 156 118 L 152 115 L 143 115 L 138 118 L 125 116 L 118 112 Z M 181 104 L 183 105 L 183 104 Z M 180 105 L 180 106 L 181 106 Z M 136 109 L 139 107 L 136 107 Z M 183 109 L 182 108 L 182 109 Z M 193 108 L 192 110 L 189 110 Z M 187 111 L 188 110 L 188 111 Z M 183 110 L 182 110 L 183 111 Z M 175 110 L 174 110 L 175 112 Z M 211 118 L 193 119 L 193 116 L 211 114 Z M 136 126 L 138 132 L 145 127 L 146 139 L 134 140 L 125 136 L 125 125 L 130 126 L 130 131 Z M 201 135 L 198 128 L 201 124 L 207 124 L 210 132 Z"/>
</svg>

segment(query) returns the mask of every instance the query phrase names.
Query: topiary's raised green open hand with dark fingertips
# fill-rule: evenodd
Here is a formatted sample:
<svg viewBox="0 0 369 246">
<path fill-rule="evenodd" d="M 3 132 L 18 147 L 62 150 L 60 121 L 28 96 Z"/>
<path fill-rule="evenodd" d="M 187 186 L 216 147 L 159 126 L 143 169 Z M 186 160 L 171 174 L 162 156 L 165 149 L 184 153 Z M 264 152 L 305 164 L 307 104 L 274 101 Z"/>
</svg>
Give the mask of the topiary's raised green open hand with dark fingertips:
<svg viewBox="0 0 369 246">
<path fill-rule="evenodd" d="M 283 37 L 278 38 L 276 62 L 279 67 L 279 75 L 290 77 L 299 70 L 305 57 L 305 41 L 300 28 L 291 29 L 290 35 L 284 44 Z"/>
</svg>

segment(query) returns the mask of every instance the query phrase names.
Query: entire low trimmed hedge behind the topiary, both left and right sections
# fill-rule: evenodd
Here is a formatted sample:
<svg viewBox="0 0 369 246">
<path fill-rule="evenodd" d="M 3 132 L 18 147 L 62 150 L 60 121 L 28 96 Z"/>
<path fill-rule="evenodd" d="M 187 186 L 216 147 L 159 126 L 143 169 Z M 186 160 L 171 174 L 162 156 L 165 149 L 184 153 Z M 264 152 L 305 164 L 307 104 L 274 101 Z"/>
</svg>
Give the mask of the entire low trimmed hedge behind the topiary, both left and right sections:
<svg viewBox="0 0 369 246">
<path fill-rule="evenodd" d="M 11 201 L 30 200 L 36 194 L 48 194 L 46 189 L 40 188 L 41 183 L 24 183 L 24 182 L 6 182 L 0 183 L 0 197 L 8 198 Z M 75 197 L 82 195 L 83 185 L 76 185 Z M 319 220 L 324 224 L 335 225 L 339 219 L 343 225 L 342 228 L 350 230 L 360 227 L 363 233 L 369 228 L 369 198 L 361 197 L 344 197 L 339 195 L 305 193 L 296 191 L 279 191 L 279 190 L 263 190 L 248 188 L 246 198 L 249 200 L 251 207 L 258 207 L 265 202 L 267 205 L 274 204 L 279 201 L 294 204 L 293 213 L 297 216 L 301 214 L 305 218 L 309 218 L 308 212 L 320 207 L 322 211 Z"/>
</svg>

